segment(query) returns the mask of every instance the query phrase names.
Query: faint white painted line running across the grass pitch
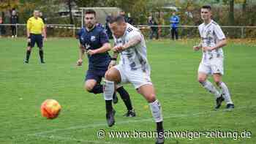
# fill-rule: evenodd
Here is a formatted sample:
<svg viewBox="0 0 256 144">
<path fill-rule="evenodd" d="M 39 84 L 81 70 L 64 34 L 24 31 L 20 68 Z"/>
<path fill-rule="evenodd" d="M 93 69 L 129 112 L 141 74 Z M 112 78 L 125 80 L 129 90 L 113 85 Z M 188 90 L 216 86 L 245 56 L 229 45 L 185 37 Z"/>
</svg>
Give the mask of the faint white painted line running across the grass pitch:
<svg viewBox="0 0 256 144">
<path fill-rule="evenodd" d="M 252 106 L 244 106 L 244 107 L 238 107 L 235 108 L 235 110 L 241 110 L 244 108 L 252 108 L 255 107 L 256 105 Z M 167 118 L 178 118 L 178 117 L 190 117 L 190 116 L 197 116 L 197 115 L 203 115 L 203 114 L 209 114 L 209 113 L 217 113 L 217 112 L 227 112 L 227 110 L 222 109 L 222 110 L 209 110 L 209 111 L 204 111 L 200 113 L 192 113 L 192 114 L 181 114 L 181 115 L 169 115 L 165 116 L 164 119 Z M 137 122 L 142 122 L 142 121 L 153 121 L 152 118 L 144 118 L 144 119 L 138 119 L 138 120 L 129 120 L 129 121 L 121 121 L 121 122 L 116 122 L 116 124 L 129 124 L 129 123 L 137 123 Z M 98 126 L 106 126 L 107 124 L 104 123 L 99 123 L 99 124 L 88 124 L 85 126 L 71 126 L 69 128 L 64 128 L 64 129 L 53 129 L 53 130 L 48 130 L 44 132 L 36 132 L 34 134 L 28 134 L 28 135 L 41 135 L 41 134 L 48 134 L 48 133 L 53 133 L 53 132 L 59 132 L 59 131 L 65 131 L 65 130 L 71 130 L 71 129 L 86 129 L 86 128 L 93 128 L 93 127 L 98 127 Z"/>
</svg>

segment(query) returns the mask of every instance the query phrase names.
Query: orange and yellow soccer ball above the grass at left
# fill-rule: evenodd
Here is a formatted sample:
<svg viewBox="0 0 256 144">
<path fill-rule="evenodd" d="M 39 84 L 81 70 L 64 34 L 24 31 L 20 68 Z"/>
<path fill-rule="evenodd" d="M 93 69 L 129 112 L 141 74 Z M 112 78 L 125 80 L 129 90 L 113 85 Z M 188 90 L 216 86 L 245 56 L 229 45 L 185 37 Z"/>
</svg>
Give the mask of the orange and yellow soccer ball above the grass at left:
<svg viewBox="0 0 256 144">
<path fill-rule="evenodd" d="M 42 116 L 48 119 L 57 118 L 61 112 L 61 105 L 55 99 L 46 99 L 42 102 L 41 113 Z"/>
</svg>

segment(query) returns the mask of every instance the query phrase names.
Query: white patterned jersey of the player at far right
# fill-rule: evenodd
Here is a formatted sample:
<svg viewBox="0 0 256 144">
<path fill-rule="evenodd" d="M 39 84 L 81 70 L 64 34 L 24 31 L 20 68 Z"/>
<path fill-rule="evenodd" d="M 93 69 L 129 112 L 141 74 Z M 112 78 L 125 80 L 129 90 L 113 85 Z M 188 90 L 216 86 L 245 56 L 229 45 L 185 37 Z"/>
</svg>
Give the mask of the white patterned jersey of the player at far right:
<svg viewBox="0 0 256 144">
<path fill-rule="evenodd" d="M 211 20 L 211 22 L 208 24 L 200 24 L 198 29 L 203 47 L 214 47 L 217 44 L 217 42 L 226 38 L 222 29 L 216 22 L 214 22 L 214 20 Z M 223 57 L 222 48 L 217 48 L 215 50 L 208 50 L 204 52 L 203 59 L 212 58 L 214 55 Z"/>
</svg>

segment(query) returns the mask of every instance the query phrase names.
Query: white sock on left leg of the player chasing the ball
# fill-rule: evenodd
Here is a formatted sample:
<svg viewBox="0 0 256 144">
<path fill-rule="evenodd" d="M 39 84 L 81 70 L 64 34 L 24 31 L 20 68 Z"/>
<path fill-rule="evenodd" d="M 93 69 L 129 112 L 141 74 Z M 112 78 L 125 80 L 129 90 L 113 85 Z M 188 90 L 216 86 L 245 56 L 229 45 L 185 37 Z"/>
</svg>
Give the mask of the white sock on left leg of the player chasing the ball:
<svg viewBox="0 0 256 144">
<path fill-rule="evenodd" d="M 104 80 L 103 96 L 105 100 L 112 100 L 115 91 L 115 83 L 110 80 Z"/>
</svg>

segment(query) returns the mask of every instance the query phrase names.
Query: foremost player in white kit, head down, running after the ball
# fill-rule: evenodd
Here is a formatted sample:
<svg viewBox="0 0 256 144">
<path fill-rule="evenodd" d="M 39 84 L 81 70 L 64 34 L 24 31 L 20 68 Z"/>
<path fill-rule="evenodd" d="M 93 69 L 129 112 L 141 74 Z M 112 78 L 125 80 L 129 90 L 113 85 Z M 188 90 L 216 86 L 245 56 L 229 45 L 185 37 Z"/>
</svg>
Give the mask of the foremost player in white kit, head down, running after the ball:
<svg viewBox="0 0 256 144">
<path fill-rule="evenodd" d="M 164 143 L 162 108 L 151 83 L 150 67 L 146 56 L 146 42 L 143 34 L 134 26 L 125 23 L 121 15 L 111 17 L 109 26 L 113 33 L 115 46 L 112 48 L 114 56 L 110 62 L 110 69 L 105 74 L 104 96 L 105 100 L 110 101 L 106 103 L 108 125 L 113 126 L 115 123 L 111 104 L 115 84 L 132 83 L 151 107 L 152 115 L 157 123 L 156 143 Z M 116 65 L 115 60 L 118 53 L 121 57 L 119 64 Z"/>
</svg>

